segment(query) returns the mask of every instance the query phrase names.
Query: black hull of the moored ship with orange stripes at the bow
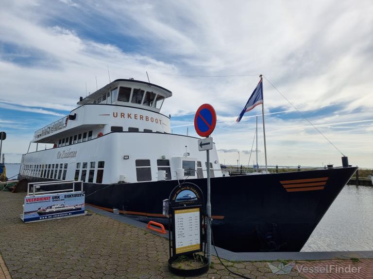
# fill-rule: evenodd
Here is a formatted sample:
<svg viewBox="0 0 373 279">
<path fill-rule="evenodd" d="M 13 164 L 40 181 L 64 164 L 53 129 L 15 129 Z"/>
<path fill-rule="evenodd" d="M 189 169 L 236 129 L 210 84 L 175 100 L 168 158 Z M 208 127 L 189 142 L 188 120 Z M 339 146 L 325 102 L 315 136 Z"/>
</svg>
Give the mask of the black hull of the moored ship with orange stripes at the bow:
<svg viewBox="0 0 373 279">
<path fill-rule="evenodd" d="M 348 167 L 211 178 L 215 244 L 236 252 L 300 251 L 355 171 Z M 206 179 L 188 182 L 206 195 Z M 167 225 L 162 201 L 177 184 L 174 180 L 110 186 L 85 183 L 85 202 L 106 210 L 118 208 L 143 222 Z"/>
</svg>

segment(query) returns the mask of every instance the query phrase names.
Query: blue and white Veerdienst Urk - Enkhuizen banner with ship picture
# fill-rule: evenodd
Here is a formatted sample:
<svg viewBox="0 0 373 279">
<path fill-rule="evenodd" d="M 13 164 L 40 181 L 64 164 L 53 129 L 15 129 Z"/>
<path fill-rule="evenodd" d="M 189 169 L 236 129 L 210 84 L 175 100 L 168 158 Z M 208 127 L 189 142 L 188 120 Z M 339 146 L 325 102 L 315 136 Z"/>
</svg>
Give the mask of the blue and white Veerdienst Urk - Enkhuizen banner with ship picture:
<svg viewBox="0 0 373 279">
<path fill-rule="evenodd" d="M 22 220 L 31 222 L 84 214 L 84 203 L 85 194 L 81 191 L 26 196 Z"/>
</svg>

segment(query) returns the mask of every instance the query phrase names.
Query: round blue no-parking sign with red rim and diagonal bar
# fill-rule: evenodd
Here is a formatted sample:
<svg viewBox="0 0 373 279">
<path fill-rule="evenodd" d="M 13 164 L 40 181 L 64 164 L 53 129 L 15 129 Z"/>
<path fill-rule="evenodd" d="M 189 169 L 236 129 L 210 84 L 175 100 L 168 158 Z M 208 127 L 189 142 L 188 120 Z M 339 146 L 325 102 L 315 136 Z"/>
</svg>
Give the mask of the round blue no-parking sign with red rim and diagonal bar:
<svg viewBox="0 0 373 279">
<path fill-rule="evenodd" d="M 194 116 L 194 128 L 201 137 L 208 137 L 216 126 L 215 109 L 210 104 L 203 104 Z"/>
</svg>

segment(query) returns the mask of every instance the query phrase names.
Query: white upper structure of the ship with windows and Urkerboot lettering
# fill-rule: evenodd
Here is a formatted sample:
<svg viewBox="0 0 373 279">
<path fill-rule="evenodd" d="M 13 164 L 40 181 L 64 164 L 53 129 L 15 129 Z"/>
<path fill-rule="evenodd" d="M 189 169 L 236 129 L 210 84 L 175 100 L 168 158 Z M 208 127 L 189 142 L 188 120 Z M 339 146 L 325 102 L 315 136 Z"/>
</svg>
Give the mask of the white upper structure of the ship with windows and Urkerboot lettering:
<svg viewBox="0 0 373 279">
<path fill-rule="evenodd" d="M 144 82 L 113 81 L 81 98 L 68 120 L 35 132 L 34 143 L 54 147 L 23 155 L 21 174 L 101 184 L 206 177 L 197 139 L 170 134 L 170 119 L 160 113 L 171 95 Z M 222 176 L 215 145 L 210 168 L 211 177 Z"/>
</svg>

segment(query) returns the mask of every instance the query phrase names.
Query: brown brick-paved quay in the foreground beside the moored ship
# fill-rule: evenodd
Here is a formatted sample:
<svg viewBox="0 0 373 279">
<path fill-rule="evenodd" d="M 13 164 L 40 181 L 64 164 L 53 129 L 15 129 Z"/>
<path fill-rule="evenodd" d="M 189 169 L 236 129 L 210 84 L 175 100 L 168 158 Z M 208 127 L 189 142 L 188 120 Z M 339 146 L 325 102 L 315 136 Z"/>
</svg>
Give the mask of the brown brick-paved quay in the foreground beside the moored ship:
<svg viewBox="0 0 373 279">
<path fill-rule="evenodd" d="M 24 195 L 0 192 L 0 279 L 179 278 L 167 268 L 167 239 L 96 213 L 24 224 L 19 218 Z M 6 266 L 1 264 L 1 256 Z M 322 267 L 326 263 L 360 267 L 360 272 L 315 274 L 299 273 L 296 268 Z M 255 279 L 373 279 L 373 260 L 296 264 L 289 274 L 276 275 L 267 262 L 226 262 L 232 271 Z M 226 271 L 214 257 L 212 268 L 199 278 L 238 276 Z"/>
</svg>

